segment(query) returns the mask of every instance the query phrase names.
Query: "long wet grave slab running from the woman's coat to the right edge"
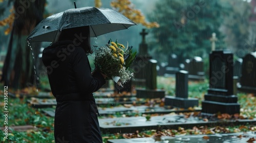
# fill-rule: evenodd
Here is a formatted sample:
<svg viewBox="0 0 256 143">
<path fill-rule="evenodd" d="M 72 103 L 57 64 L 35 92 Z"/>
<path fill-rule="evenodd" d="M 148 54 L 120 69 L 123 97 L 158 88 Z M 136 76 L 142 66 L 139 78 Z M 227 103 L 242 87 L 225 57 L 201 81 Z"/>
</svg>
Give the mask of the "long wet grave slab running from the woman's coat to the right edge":
<svg viewBox="0 0 256 143">
<path fill-rule="evenodd" d="M 99 125 L 103 133 L 133 133 L 137 130 L 157 130 L 159 126 L 162 129 L 177 129 L 178 127 L 193 128 L 195 126 L 227 126 L 227 125 L 245 125 L 255 124 L 256 120 L 217 120 L 203 121 L 199 117 L 188 117 L 184 115 L 163 115 L 152 116 L 150 121 L 146 117 L 117 117 L 99 119 Z"/>
</svg>

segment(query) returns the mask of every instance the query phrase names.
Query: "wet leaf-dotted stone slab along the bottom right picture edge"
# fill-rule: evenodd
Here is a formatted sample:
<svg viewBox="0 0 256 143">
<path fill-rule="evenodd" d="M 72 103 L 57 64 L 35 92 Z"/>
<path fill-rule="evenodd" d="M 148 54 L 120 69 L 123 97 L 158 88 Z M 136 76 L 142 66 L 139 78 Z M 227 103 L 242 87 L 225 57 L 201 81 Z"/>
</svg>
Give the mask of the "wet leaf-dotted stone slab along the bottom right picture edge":
<svg viewBox="0 0 256 143">
<path fill-rule="evenodd" d="M 256 134 L 254 132 L 247 133 L 230 133 L 230 134 L 214 134 L 214 135 L 179 135 L 176 137 L 164 136 L 161 138 L 147 137 L 147 138 L 131 138 L 131 139 L 110 139 L 108 143 L 248 143 L 250 139 L 254 139 Z"/>
</svg>

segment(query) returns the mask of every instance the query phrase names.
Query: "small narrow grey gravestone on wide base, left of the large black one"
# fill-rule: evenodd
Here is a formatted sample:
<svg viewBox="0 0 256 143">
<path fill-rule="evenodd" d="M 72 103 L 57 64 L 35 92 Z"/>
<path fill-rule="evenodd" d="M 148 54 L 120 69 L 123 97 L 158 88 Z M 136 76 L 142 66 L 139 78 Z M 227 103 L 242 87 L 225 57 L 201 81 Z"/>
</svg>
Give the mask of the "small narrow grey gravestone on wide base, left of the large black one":
<svg viewBox="0 0 256 143">
<path fill-rule="evenodd" d="M 176 97 L 165 96 L 165 105 L 179 108 L 198 106 L 198 99 L 188 99 L 188 72 L 180 70 L 176 73 Z"/>
</svg>

